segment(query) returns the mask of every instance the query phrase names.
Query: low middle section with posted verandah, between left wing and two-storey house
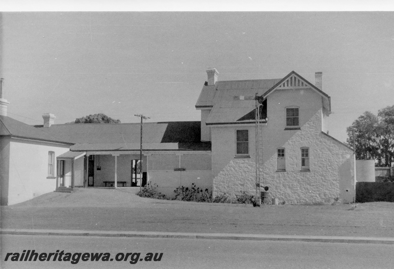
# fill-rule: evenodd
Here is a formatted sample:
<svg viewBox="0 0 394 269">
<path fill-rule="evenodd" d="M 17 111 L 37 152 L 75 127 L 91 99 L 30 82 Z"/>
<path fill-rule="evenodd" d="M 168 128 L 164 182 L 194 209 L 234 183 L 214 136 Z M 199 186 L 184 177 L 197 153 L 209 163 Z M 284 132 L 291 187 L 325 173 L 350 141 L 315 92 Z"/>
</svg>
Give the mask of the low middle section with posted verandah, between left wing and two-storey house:
<svg viewBox="0 0 394 269">
<path fill-rule="evenodd" d="M 212 188 L 211 143 L 199 140 L 198 121 L 144 123 L 142 179 L 139 123 L 44 124 L 36 128 L 74 143 L 69 152 L 57 157 L 59 191 L 139 187 L 148 181 L 167 196 L 192 183 Z"/>
</svg>

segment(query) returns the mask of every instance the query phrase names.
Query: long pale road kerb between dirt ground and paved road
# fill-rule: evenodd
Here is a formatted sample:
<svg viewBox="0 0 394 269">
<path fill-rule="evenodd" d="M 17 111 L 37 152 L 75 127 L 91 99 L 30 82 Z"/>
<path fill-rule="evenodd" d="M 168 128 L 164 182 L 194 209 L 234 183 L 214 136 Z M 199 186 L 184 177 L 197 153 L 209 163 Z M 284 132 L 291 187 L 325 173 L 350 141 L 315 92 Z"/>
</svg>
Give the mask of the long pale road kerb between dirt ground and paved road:
<svg viewBox="0 0 394 269">
<path fill-rule="evenodd" d="M 85 237 L 119 237 L 119 238 L 171 238 L 171 239 L 224 239 L 224 240 L 272 240 L 272 241 L 306 241 L 330 243 L 375 243 L 394 244 L 394 238 L 370 237 L 327 237 L 327 236 L 293 236 L 293 235 L 254 235 L 254 234 L 218 234 L 218 233 L 170 233 L 170 232 L 119 232 L 119 231 L 79 231 L 79 230 L 28 230 L 1 229 L 1 235 L 36 235 L 36 236 L 85 236 Z"/>
</svg>

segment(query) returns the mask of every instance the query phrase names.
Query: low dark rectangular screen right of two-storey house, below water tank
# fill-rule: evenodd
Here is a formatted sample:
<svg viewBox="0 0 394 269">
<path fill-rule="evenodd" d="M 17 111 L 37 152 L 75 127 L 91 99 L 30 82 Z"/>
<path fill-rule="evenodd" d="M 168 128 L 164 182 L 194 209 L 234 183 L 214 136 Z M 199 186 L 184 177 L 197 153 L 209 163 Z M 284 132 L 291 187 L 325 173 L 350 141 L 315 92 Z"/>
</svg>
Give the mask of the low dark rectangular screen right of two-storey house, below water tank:
<svg viewBox="0 0 394 269">
<path fill-rule="evenodd" d="M 357 182 L 356 203 L 394 202 L 394 182 Z"/>
</svg>

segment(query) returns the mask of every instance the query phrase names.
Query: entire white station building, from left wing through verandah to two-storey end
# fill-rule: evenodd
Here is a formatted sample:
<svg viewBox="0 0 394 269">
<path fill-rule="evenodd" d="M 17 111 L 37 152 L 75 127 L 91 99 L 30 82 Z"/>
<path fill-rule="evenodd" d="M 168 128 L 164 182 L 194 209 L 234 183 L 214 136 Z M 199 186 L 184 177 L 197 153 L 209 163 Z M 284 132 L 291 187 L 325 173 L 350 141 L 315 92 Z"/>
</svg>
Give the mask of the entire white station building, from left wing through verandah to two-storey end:
<svg viewBox="0 0 394 269">
<path fill-rule="evenodd" d="M 1 204 L 146 182 L 167 196 L 192 183 L 213 196 L 255 194 L 256 152 L 260 182 L 272 198 L 354 201 L 355 156 L 328 135 L 331 105 L 321 72 L 315 85 L 294 71 L 243 81 L 218 81 L 215 68 L 207 74 L 196 104 L 201 121 L 144 123 L 142 163 L 139 123 L 55 124 L 54 115 L 44 114 L 42 125 L 30 126 L 7 117 L 9 103 L 0 98 Z"/>
</svg>

